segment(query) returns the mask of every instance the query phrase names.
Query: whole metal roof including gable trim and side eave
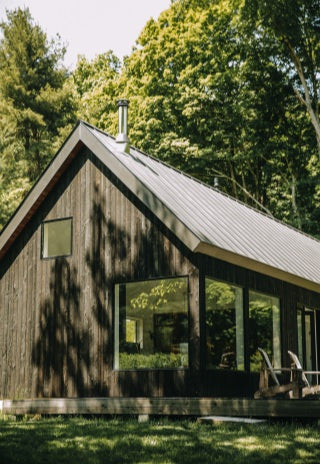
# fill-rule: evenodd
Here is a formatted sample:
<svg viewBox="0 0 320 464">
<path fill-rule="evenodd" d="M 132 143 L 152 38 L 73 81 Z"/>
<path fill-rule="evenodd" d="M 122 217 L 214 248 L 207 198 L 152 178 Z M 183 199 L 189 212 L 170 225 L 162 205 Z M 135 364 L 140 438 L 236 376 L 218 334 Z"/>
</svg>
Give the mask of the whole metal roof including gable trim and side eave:
<svg viewBox="0 0 320 464">
<path fill-rule="evenodd" d="M 192 251 L 247 267 L 320 292 L 320 242 L 231 198 L 167 164 L 121 144 L 79 122 L 66 143 L 0 234 L 0 257 L 6 243 L 43 201 L 86 145 Z M 20 229 L 19 229 L 20 228 Z"/>
</svg>

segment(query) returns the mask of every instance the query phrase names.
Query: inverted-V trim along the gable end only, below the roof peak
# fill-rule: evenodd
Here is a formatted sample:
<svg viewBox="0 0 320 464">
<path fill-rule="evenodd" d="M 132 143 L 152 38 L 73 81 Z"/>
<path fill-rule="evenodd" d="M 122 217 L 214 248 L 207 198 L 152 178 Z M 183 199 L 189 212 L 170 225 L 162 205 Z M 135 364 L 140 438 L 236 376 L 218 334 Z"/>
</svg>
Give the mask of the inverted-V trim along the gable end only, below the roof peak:
<svg viewBox="0 0 320 464">
<path fill-rule="evenodd" d="M 112 151 L 92 134 L 86 123 L 79 121 L 60 151 L 2 230 L 0 234 L 0 259 L 6 254 L 26 223 L 35 214 L 43 199 L 52 190 L 83 146 L 87 146 L 190 250 L 199 245 L 200 239 L 129 171 L 125 163 L 118 161 Z"/>
</svg>

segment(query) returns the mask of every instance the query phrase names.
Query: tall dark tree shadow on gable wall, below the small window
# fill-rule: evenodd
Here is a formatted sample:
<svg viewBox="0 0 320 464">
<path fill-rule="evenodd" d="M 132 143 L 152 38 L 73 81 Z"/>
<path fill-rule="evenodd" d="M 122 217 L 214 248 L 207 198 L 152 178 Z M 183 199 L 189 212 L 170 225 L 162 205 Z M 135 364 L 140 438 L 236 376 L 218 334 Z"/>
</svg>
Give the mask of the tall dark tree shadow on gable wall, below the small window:
<svg viewBox="0 0 320 464">
<path fill-rule="evenodd" d="M 77 269 L 66 258 L 51 267 L 50 297 L 40 308 L 39 334 L 32 351 L 38 367 L 37 396 L 85 394 L 90 334 L 81 322 Z"/>
</svg>

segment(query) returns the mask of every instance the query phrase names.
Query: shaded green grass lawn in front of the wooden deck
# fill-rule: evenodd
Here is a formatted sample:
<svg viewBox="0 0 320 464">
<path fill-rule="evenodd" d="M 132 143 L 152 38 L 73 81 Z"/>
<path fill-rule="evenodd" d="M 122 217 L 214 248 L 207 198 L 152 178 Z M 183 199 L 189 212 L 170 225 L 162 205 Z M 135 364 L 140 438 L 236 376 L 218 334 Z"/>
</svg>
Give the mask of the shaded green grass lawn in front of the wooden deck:
<svg viewBox="0 0 320 464">
<path fill-rule="evenodd" d="M 1 464 L 320 462 L 320 428 L 192 421 L 0 419 Z"/>
</svg>

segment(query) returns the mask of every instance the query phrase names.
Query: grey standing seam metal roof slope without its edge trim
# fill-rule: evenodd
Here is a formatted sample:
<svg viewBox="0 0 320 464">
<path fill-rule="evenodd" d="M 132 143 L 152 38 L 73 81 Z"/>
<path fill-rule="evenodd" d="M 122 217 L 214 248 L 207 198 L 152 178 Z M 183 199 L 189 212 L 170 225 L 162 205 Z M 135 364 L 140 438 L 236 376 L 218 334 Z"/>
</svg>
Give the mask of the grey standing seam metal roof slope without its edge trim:
<svg viewBox="0 0 320 464">
<path fill-rule="evenodd" d="M 320 283 L 320 242 L 109 135 L 91 133 L 201 242 Z"/>
</svg>

